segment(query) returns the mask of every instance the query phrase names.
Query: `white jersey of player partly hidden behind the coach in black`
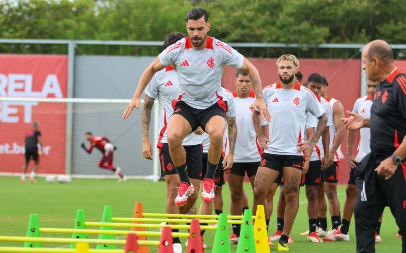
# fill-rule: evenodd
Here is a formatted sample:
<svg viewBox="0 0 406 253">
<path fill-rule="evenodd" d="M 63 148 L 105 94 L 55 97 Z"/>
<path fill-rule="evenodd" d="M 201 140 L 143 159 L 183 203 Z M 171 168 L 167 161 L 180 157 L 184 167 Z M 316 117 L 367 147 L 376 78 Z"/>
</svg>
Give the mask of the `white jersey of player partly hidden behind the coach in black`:
<svg viewBox="0 0 406 253">
<path fill-rule="evenodd" d="M 372 101 L 371 97 L 364 96 L 362 98 L 357 99 L 354 104 L 354 109 L 352 110 L 355 113 L 358 113 L 362 117 L 365 118 L 370 118 L 371 116 L 371 106 L 372 106 Z M 369 152 L 371 152 L 371 149 L 369 147 L 369 140 L 371 138 L 371 132 L 369 128 L 361 128 L 359 130 L 360 134 L 360 140 L 358 143 L 358 148 L 357 148 L 357 153 L 355 155 L 355 160 L 357 162 L 360 162 L 362 158 L 365 157 Z"/>
</svg>

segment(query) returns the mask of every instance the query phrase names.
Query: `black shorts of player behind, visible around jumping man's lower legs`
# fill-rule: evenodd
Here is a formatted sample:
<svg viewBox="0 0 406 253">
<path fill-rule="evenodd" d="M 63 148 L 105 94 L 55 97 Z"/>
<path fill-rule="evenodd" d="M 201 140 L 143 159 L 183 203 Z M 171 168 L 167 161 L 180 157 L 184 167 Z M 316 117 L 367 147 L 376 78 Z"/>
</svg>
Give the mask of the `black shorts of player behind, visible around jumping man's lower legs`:
<svg viewBox="0 0 406 253">
<path fill-rule="evenodd" d="M 203 147 L 201 144 L 183 147 L 186 151 L 186 169 L 189 178 L 200 180 Z M 161 177 L 178 174 L 171 155 L 169 154 L 169 146 L 167 143 L 162 143 L 159 149 L 159 162 L 161 164 Z"/>
</svg>

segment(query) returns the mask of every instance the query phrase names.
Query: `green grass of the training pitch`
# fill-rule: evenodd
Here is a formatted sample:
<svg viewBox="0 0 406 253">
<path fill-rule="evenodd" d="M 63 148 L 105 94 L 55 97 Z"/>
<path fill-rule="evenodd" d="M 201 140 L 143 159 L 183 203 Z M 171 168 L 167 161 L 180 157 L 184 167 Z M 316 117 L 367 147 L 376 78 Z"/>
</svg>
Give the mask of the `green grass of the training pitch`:
<svg viewBox="0 0 406 253">
<path fill-rule="evenodd" d="M 163 182 L 129 180 L 118 183 L 116 180 L 108 179 L 73 179 L 70 184 L 50 184 L 46 183 L 44 178 L 38 178 L 36 184 L 30 182 L 22 184 L 15 177 L 0 177 L 0 185 L 2 186 L 0 194 L 0 235 L 2 236 L 25 236 L 30 214 L 39 214 L 41 227 L 73 228 L 77 209 L 84 209 L 86 221 L 93 222 L 101 220 L 104 205 L 112 206 L 113 217 L 132 217 L 136 201 L 143 202 L 144 212 L 164 213 L 165 210 L 166 193 Z M 250 185 L 245 184 L 244 187 L 252 202 Z M 339 186 L 338 192 L 343 208 L 345 186 Z M 227 213 L 230 203 L 227 185 L 223 189 L 223 197 L 223 212 Z M 200 203 L 200 198 L 198 202 Z M 276 201 L 274 203 L 276 204 Z M 294 240 L 294 243 L 289 245 L 291 251 L 355 252 L 354 220 L 350 225 L 350 242 L 311 243 L 306 240 L 306 236 L 299 235 L 300 232 L 308 230 L 306 205 L 306 196 L 301 194 L 299 212 L 291 233 Z M 328 224 L 331 226 L 329 219 Z M 269 226 L 269 233 L 274 233 L 276 230 L 275 213 L 271 217 Z M 231 227 L 229 227 L 229 232 L 231 232 Z M 396 233 L 395 221 L 387 208 L 381 227 L 382 243 L 376 246 L 377 252 L 400 252 L 401 239 L 395 237 Z M 205 234 L 204 239 L 209 246 L 207 252 L 211 252 L 214 234 L 215 231 L 207 231 Z M 69 237 L 69 235 L 55 234 L 43 234 L 42 236 Z M 89 238 L 93 237 L 89 236 Z M 158 240 L 158 238 L 152 239 Z M 185 242 L 183 239 L 181 240 L 183 243 Z M 22 243 L 0 242 L 0 246 L 20 245 Z M 60 244 L 43 244 L 43 246 L 68 247 L 68 245 Z M 231 245 L 231 249 L 234 252 L 236 245 Z M 272 250 L 276 250 L 276 246 L 272 247 Z M 156 252 L 156 248 L 152 247 L 150 252 Z"/>
</svg>

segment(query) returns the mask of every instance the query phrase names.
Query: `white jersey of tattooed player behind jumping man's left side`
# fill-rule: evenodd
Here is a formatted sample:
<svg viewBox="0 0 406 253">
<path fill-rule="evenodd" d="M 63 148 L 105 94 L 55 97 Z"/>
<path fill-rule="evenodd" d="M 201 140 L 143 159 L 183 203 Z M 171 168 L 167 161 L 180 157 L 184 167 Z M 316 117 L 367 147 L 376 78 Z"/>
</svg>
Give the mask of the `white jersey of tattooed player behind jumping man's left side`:
<svg viewBox="0 0 406 253">
<path fill-rule="evenodd" d="M 158 98 L 159 101 L 159 137 L 157 144 L 159 148 L 162 143 L 168 142 L 166 139 L 166 126 L 174 113 L 173 105 L 179 97 L 179 81 L 176 70 L 169 65 L 165 69 L 156 72 L 150 83 L 148 83 L 145 94 L 153 99 Z M 182 145 L 190 146 L 200 143 L 201 137 L 191 133 L 183 139 Z"/>
</svg>

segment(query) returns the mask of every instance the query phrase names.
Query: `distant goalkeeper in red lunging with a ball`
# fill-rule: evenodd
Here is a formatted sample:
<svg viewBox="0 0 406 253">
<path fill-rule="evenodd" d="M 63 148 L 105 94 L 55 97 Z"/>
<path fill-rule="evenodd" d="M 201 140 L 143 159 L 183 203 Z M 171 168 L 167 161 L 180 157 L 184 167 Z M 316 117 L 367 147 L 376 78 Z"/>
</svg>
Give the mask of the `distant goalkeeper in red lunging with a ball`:
<svg viewBox="0 0 406 253">
<path fill-rule="evenodd" d="M 93 148 L 97 148 L 100 150 L 103 156 L 101 157 L 98 166 L 100 168 L 106 168 L 107 170 L 111 170 L 114 172 L 114 176 L 119 177 L 119 182 L 126 181 L 127 178 L 121 174 L 121 168 L 115 167 L 113 165 L 113 153 L 116 147 L 112 150 L 106 150 L 106 144 L 110 143 L 111 141 L 105 136 L 93 136 L 91 132 L 85 133 L 86 140 L 89 142 L 89 148 L 86 148 L 85 144 L 82 143 L 81 147 L 87 152 L 91 153 Z"/>
</svg>

